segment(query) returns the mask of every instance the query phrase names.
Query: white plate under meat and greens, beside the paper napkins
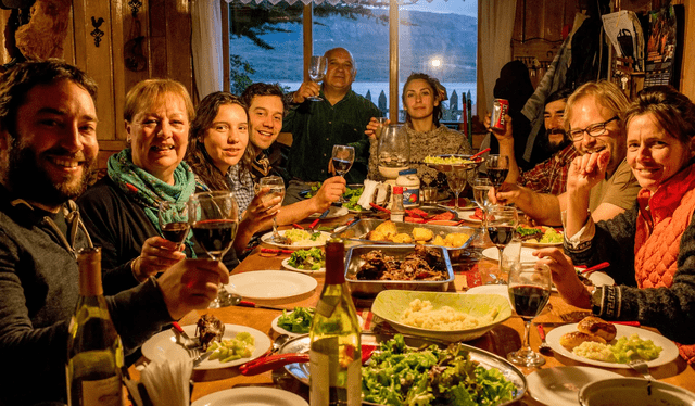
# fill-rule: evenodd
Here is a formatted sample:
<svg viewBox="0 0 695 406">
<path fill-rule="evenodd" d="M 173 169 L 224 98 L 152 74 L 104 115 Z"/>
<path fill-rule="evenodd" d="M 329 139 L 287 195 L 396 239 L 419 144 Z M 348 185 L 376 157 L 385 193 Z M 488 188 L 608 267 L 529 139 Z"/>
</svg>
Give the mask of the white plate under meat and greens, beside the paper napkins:
<svg viewBox="0 0 695 406">
<path fill-rule="evenodd" d="M 181 326 L 189 337 L 195 337 L 195 326 Z M 223 339 L 229 340 L 237 337 L 238 333 L 245 331 L 253 335 L 255 350 L 250 358 L 239 358 L 229 363 L 220 363 L 218 359 L 205 359 L 195 369 L 222 369 L 241 365 L 251 359 L 255 359 L 265 354 L 270 348 L 270 339 L 263 332 L 247 326 L 225 325 L 225 333 Z M 166 361 L 170 358 L 187 358 L 188 353 L 184 347 L 176 343 L 176 337 L 169 329 L 151 337 L 150 340 L 142 344 L 142 355 L 152 361 Z"/>
</svg>

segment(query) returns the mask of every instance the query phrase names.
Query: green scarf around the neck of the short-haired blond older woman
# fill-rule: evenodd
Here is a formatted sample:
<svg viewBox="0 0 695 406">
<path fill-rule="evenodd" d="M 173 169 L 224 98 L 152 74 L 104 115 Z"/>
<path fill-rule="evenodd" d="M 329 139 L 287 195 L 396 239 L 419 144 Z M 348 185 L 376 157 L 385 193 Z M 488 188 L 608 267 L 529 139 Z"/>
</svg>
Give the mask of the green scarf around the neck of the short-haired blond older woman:
<svg viewBox="0 0 695 406">
<path fill-rule="evenodd" d="M 124 149 L 111 155 L 106 165 L 109 177 L 127 195 L 135 199 L 148 216 L 154 228 L 162 234 L 160 227 L 159 204 L 162 201 L 174 202 L 177 206 L 186 205 L 188 199 L 195 192 L 195 176 L 185 162 L 178 164 L 174 170 L 174 185 L 157 179 L 154 175 L 132 163 L 132 151 Z M 175 216 L 170 216 L 175 217 Z M 176 221 L 188 221 L 188 218 L 165 218 Z M 189 231 L 184 243 L 190 249 L 191 257 L 195 257 L 192 231 Z"/>
</svg>

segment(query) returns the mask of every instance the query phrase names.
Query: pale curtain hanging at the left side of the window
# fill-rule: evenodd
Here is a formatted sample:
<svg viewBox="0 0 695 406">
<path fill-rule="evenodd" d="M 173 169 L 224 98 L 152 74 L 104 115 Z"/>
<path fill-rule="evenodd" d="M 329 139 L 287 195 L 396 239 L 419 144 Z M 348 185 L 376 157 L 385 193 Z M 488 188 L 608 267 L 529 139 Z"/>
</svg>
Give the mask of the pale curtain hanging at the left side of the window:
<svg viewBox="0 0 695 406">
<path fill-rule="evenodd" d="M 224 90 L 222 10 L 217 0 L 194 0 L 191 7 L 191 48 L 198 100 Z"/>
</svg>

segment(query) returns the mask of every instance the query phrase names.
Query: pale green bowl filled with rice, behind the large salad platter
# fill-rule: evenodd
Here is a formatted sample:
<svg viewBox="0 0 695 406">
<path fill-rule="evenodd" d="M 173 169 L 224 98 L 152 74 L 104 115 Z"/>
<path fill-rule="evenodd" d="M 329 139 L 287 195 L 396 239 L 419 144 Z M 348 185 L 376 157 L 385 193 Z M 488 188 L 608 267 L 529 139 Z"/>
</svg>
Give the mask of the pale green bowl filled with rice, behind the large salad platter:
<svg viewBox="0 0 695 406">
<path fill-rule="evenodd" d="M 379 292 L 371 312 L 399 332 L 447 342 L 478 339 L 511 317 L 498 294 L 403 290 Z"/>
</svg>

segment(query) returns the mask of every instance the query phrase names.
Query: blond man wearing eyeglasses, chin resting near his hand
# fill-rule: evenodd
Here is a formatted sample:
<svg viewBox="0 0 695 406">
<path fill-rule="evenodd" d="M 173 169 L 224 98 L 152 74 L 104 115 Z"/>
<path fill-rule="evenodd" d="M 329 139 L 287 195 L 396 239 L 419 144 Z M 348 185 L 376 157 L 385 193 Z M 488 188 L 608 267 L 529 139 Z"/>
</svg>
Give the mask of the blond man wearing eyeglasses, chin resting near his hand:
<svg viewBox="0 0 695 406">
<path fill-rule="evenodd" d="M 589 208 L 594 221 L 609 219 L 634 204 L 640 186 L 626 162 L 627 147 L 621 114 L 629 101 L 606 80 L 587 83 L 567 100 L 565 123 L 580 155 L 595 154 L 608 160 L 606 179 L 591 190 Z M 542 194 L 504 183 L 491 202 L 514 203 L 536 223 L 560 225 L 567 194 Z"/>
</svg>

